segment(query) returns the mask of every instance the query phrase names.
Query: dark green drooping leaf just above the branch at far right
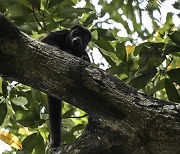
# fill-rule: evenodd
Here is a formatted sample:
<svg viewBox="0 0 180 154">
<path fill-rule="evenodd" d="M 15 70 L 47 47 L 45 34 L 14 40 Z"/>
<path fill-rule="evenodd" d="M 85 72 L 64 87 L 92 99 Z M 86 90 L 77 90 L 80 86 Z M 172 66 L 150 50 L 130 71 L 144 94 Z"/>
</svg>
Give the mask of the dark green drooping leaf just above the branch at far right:
<svg viewBox="0 0 180 154">
<path fill-rule="evenodd" d="M 172 102 L 180 102 L 180 95 L 177 92 L 174 84 L 169 80 L 165 79 L 165 89 L 168 99 Z"/>
</svg>

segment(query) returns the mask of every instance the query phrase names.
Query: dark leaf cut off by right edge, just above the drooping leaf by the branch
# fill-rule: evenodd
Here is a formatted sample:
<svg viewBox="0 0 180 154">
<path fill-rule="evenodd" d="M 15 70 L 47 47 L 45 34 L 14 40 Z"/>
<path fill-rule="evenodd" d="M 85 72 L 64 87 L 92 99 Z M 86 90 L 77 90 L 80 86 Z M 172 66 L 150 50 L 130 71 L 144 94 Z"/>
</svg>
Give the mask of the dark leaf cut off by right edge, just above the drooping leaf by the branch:
<svg viewBox="0 0 180 154">
<path fill-rule="evenodd" d="M 174 81 L 178 85 L 180 85 L 180 68 L 177 69 L 171 69 L 167 72 L 167 75 L 171 79 L 171 81 Z"/>
</svg>

